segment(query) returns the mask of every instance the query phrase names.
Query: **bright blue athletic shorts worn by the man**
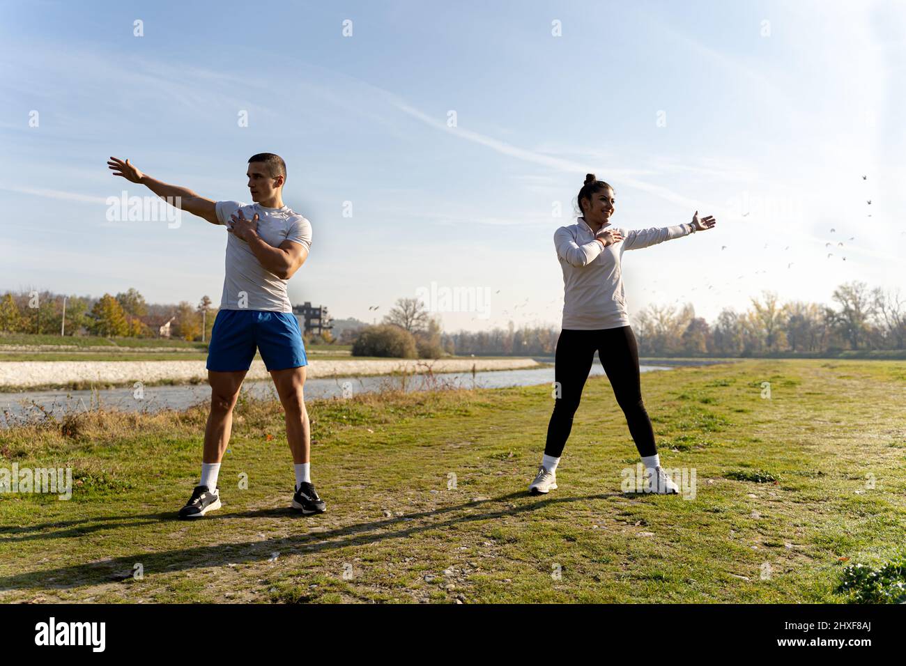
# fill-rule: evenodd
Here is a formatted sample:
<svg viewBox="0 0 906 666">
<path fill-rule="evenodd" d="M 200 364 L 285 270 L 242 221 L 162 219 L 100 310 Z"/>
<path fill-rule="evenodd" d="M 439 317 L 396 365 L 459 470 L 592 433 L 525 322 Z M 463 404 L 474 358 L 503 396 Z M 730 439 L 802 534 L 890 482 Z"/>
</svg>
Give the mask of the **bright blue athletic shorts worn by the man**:
<svg viewBox="0 0 906 666">
<path fill-rule="evenodd" d="M 293 313 L 264 310 L 220 310 L 207 345 L 207 369 L 248 370 L 261 352 L 268 371 L 308 365 L 299 322 Z"/>
</svg>

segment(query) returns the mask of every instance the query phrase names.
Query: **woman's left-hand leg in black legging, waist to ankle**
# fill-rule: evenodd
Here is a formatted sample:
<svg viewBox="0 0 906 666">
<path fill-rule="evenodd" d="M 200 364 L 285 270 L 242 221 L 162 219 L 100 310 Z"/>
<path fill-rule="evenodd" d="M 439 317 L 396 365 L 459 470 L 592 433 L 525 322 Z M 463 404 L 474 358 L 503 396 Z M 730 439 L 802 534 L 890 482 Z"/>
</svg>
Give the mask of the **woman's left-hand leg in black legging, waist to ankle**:
<svg viewBox="0 0 906 666">
<path fill-rule="evenodd" d="M 573 415 L 579 409 L 582 390 L 594 362 L 596 333 L 564 330 L 557 339 L 554 381 L 557 381 L 559 393 L 554 398 L 554 413 L 547 425 L 545 456 L 560 458 L 573 430 Z"/>
</svg>

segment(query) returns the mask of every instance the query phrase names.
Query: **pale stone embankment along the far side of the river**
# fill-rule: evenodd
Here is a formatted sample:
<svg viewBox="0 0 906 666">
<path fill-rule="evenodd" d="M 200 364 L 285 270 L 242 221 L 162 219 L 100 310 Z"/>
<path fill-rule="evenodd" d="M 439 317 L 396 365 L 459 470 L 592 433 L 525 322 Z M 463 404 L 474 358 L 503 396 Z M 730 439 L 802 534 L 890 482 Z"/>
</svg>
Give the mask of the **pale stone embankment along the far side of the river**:
<svg viewBox="0 0 906 666">
<path fill-rule="evenodd" d="M 310 359 L 308 377 L 352 377 L 390 374 L 392 372 L 469 372 L 472 366 L 482 370 L 516 370 L 538 367 L 534 359 L 440 359 L 416 361 L 406 359 L 319 361 Z M 261 361 L 252 362 L 247 379 L 268 379 Z M 66 387 L 75 382 L 148 384 L 164 381 L 197 382 L 207 380 L 204 361 L 19 361 L 0 362 L 0 386 Z"/>
</svg>

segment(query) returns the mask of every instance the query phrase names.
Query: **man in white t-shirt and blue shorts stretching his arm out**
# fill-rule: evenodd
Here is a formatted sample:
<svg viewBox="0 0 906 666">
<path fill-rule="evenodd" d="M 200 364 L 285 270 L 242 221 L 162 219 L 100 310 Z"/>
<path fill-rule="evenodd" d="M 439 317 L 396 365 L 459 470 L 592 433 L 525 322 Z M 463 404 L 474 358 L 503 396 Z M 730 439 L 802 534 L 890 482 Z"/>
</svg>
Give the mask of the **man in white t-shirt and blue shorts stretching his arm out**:
<svg viewBox="0 0 906 666">
<path fill-rule="evenodd" d="M 283 403 L 286 439 L 293 452 L 295 492 L 292 506 L 319 514 L 324 502 L 314 490 L 310 472 L 311 429 L 305 410 L 305 348 L 299 323 L 286 295 L 286 283 L 304 264 L 312 246 L 312 225 L 283 202 L 286 164 L 264 152 L 248 160 L 252 201 L 212 201 L 187 188 L 152 179 L 129 160 L 107 162 L 114 176 L 145 185 L 168 203 L 226 226 L 226 275 L 220 310 L 211 331 L 207 381 L 211 410 L 205 430 L 201 481 L 180 518 L 198 518 L 220 508 L 217 476 L 229 444 L 233 408 L 246 372 L 261 352 Z"/>
</svg>

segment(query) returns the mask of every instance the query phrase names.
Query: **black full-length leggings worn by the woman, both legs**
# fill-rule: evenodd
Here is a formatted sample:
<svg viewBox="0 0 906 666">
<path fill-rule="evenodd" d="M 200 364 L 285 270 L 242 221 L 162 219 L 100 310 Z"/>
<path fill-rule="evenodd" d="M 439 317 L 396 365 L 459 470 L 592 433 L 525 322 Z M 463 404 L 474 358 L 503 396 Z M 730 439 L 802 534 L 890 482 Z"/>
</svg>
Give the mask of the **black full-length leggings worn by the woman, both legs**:
<svg viewBox="0 0 906 666">
<path fill-rule="evenodd" d="M 611 381 L 617 403 L 626 415 L 629 431 L 641 456 L 658 452 L 654 429 L 641 401 L 639 380 L 639 347 L 630 326 L 600 331 L 564 329 L 557 340 L 554 379 L 559 382 L 560 397 L 554 400 L 554 413 L 547 426 L 545 454 L 560 458 L 570 430 L 573 415 L 579 409 L 582 390 L 592 370 L 594 352 Z"/>
</svg>

